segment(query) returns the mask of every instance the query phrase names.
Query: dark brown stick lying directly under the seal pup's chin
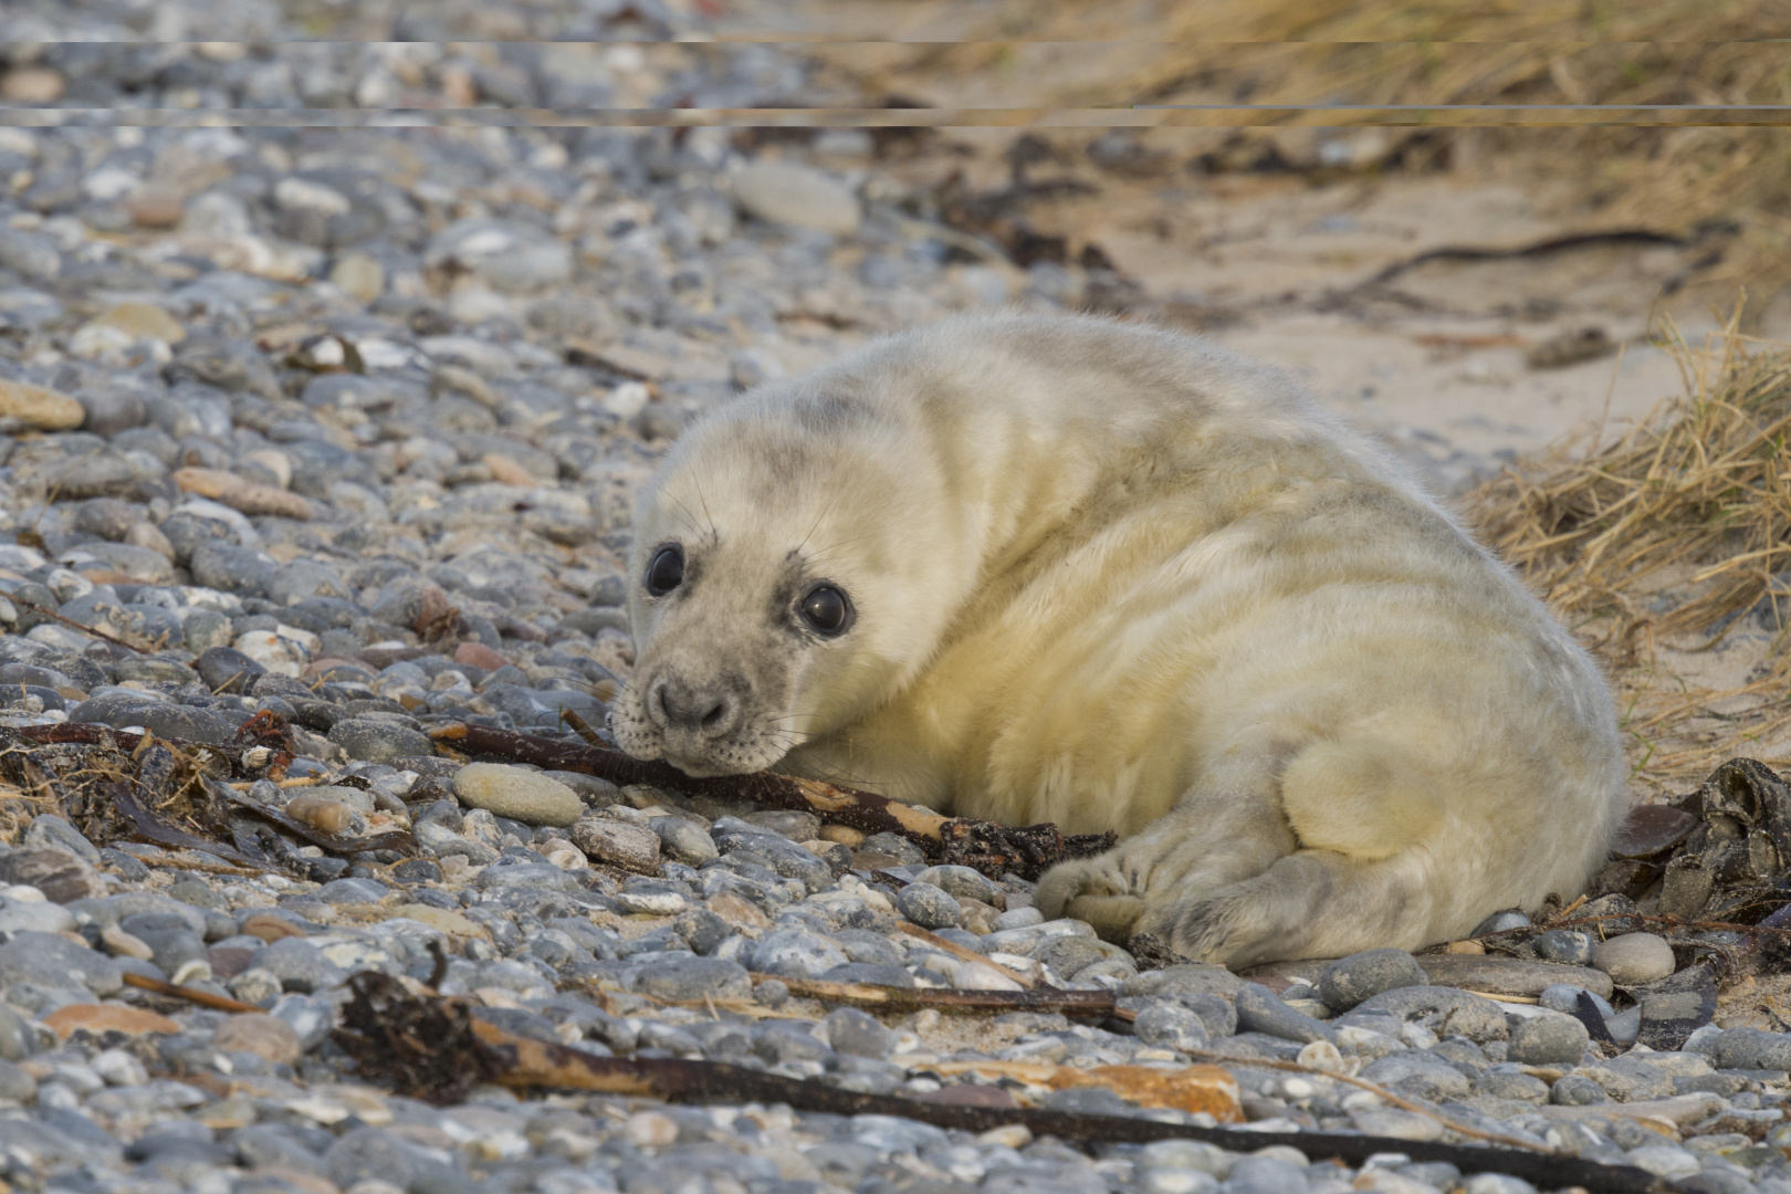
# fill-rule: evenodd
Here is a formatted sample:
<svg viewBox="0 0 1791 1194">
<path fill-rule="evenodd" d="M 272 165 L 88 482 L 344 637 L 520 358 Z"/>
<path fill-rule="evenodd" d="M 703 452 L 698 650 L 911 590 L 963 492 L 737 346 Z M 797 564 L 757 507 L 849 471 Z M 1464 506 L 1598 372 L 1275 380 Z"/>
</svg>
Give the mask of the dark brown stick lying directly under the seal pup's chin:
<svg viewBox="0 0 1791 1194">
<path fill-rule="evenodd" d="M 940 861 L 976 866 L 994 875 L 1012 870 L 1037 879 L 1053 863 L 1100 854 L 1114 841 L 1112 834 L 1066 838 L 1057 825 L 1008 827 L 940 816 L 919 804 L 797 775 L 758 772 L 693 779 L 670 763 L 641 763 L 607 746 L 518 734 L 489 725 L 437 725 L 430 727 L 428 734 L 437 743 L 467 754 L 498 755 L 546 770 L 582 772 L 607 779 L 618 788 L 650 784 L 716 800 L 752 800 L 779 809 L 817 813 L 863 832 L 894 832 Z"/>
</svg>

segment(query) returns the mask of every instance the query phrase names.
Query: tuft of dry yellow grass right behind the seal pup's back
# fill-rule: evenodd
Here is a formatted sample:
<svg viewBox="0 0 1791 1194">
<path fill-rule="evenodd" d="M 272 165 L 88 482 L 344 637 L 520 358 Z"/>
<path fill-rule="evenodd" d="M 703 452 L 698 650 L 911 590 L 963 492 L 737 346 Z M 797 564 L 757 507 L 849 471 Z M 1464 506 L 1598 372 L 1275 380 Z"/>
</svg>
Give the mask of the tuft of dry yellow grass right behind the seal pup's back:
<svg viewBox="0 0 1791 1194">
<path fill-rule="evenodd" d="M 1701 779 L 1735 754 L 1791 739 L 1791 351 L 1728 328 L 1701 347 L 1669 340 L 1685 394 L 1615 444 L 1558 451 L 1488 482 L 1472 519 L 1612 669 L 1633 761 L 1658 784 Z M 1741 682 L 1664 669 L 1709 653 L 1759 612 Z"/>
</svg>

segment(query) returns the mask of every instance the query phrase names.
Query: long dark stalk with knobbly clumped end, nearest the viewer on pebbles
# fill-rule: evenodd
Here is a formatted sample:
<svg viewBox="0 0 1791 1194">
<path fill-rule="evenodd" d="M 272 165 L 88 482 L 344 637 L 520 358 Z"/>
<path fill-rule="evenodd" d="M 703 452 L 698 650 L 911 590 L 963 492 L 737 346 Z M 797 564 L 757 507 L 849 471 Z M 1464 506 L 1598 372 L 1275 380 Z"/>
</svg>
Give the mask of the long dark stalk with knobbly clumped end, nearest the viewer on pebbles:
<svg viewBox="0 0 1791 1194">
<path fill-rule="evenodd" d="M 1205 1140 L 1241 1153 L 1286 1144 L 1313 1160 L 1334 1156 L 1356 1165 L 1375 1153 L 1404 1153 L 1413 1160 L 1451 1162 L 1463 1173 L 1508 1173 L 1546 1189 L 1578 1185 L 1610 1194 L 1644 1194 L 1655 1183 L 1653 1174 L 1630 1165 L 1601 1165 L 1578 1156 L 1504 1147 L 1333 1131 L 1243 1131 L 1128 1115 L 953 1106 L 888 1094 L 860 1094 L 720 1062 L 600 1058 L 480 1022 L 464 1001 L 410 995 L 385 974 L 364 970 L 349 979 L 349 986 L 353 1001 L 344 1008 L 342 1028 L 335 1031 L 335 1040 L 355 1058 L 360 1078 L 396 1085 L 401 1094 L 437 1101 L 458 1097 L 469 1083 L 496 1081 L 516 1088 L 591 1090 L 666 1103 L 731 1106 L 784 1103 L 797 1112 L 899 1115 L 964 1131 L 1021 1124 L 1033 1135 L 1085 1144 Z"/>
</svg>

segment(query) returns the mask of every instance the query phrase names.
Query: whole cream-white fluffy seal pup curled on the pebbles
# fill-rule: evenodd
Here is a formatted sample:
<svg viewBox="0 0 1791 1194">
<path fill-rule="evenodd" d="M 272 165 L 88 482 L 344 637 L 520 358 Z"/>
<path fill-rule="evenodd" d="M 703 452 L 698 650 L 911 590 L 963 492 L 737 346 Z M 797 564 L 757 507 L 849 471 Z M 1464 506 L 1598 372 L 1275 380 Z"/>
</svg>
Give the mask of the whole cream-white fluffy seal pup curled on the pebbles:
<svg viewBox="0 0 1791 1194">
<path fill-rule="evenodd" d="M 1624 813 L 1592 659 L 1277 371 L 960 317 L 765 385 L 641 490 L 611 729 L 958 816 L 1114 831 L 1046 917 L 1232 967 L 1572 895 Z"/>
</svg>

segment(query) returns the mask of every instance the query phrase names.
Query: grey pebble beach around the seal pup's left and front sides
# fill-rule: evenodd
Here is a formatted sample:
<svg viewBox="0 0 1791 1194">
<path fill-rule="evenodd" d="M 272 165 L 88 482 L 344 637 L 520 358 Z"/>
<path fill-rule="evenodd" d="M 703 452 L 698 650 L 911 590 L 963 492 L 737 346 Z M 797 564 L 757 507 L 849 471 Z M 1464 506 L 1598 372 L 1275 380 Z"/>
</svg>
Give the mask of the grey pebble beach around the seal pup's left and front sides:
<svg viewBox="0 0 1791 1194">
<path fill-rule="evenodd" d="M 1791 1035 L 1718 1024 L 1703 938 L 1646 900 L 1239 976 L 903 834 L 457 748 L 602 741 L 632 494 L 693 419 L 883 331 L 1116 283 L 935 222 L 861 129 L 532 118 L 818 86 L 784 47 L 679 45 L 682 9 L 349 7 L 308 39 L 330 5 L 0 0 L 0 1189 L 1576 1185 L 1479 1149 L 1791 1192 Z M 1635 857 L 1687 832 L 1657 829 Z M 344 1042 L 367 972 L 591 1058 L 1273 1142 L 430 1099 Z M 1110 1010 L 924 1006 L 1050 988 Z"/>
</svg>

